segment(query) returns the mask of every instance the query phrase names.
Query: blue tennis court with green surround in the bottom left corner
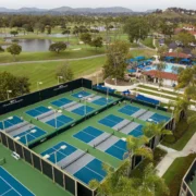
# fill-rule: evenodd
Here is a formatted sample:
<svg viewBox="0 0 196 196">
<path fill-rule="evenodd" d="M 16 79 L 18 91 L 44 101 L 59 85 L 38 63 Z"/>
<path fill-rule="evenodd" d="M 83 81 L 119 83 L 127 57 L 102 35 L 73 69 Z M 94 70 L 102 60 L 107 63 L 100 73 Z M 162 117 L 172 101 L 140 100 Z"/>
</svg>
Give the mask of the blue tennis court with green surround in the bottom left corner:
<svg viewBox="0 0 196 196">
<path fill-rule="evenodd" d="M 23 160 L 15 160 L 11 151 L 0 144 L 0 158 L 5 158 L 5 163 L 0 166 L 0 195 L 3 196 L 71 196 L 53 182 L 33 169 Z"/>
</svg>

